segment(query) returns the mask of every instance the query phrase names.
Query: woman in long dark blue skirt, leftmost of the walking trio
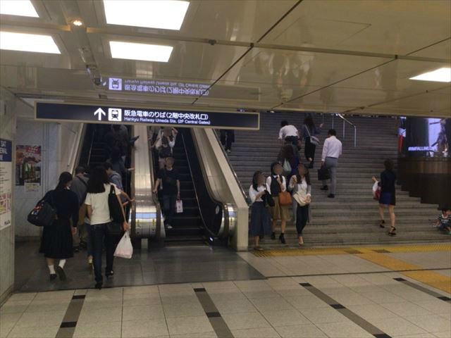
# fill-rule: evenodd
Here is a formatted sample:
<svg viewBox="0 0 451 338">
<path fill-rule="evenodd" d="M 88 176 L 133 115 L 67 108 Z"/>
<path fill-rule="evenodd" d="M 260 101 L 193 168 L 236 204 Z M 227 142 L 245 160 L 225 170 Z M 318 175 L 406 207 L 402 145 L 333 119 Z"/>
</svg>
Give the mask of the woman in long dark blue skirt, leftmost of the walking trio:
<svg viewBox="0 0 451 338">
<path fill-rule="evenodd" d="M 265 184 L 265 177 L 261 171 L 256 171 L 252 177 L 252 185 L 249 187 L 249 198 L 251 206 L 251 236 L 254 237 L 254 250 L 261 251 L 259 246 L 260 236 L 269 234 L 269 213 L 266 208 L 266 193 L 268 187 Z"/>
</svg>

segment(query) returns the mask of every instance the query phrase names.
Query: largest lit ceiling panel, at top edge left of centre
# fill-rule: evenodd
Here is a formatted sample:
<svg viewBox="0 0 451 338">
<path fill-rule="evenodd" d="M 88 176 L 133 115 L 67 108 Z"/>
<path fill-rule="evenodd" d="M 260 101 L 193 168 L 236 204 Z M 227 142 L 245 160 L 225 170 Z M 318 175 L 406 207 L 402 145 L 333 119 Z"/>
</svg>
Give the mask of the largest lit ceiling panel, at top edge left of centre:
<svg viewBox="0 0 451 338">
<path fill-rule="evenodd" d="M 189 1 L 104 0 L 106 23 L 180 30 Z"/>
</svg>

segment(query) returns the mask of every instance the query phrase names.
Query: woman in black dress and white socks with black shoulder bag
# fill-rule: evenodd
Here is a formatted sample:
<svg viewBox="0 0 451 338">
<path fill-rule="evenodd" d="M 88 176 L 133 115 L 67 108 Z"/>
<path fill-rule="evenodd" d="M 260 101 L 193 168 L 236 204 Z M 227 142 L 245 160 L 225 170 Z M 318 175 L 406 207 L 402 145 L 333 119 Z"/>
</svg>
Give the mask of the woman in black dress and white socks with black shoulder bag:
<svg viewBox="0 0 451 338">
<path fill-rule="evenodd" d="M 72 232 L 78 222 L 78 197 L 69 190 L 72 175 L 61 173 L 58 185 L 45 194 L 44 200 L 56 209 L 56 219 L 52 225 L 44 227 L 40 253 L 44 253 L 49 267 L 50 280 L 66 280 L 64 265 L 67 258 L 73 257 Z M 55 259 L 59 259 L 55 266 Z"/>
</svg>

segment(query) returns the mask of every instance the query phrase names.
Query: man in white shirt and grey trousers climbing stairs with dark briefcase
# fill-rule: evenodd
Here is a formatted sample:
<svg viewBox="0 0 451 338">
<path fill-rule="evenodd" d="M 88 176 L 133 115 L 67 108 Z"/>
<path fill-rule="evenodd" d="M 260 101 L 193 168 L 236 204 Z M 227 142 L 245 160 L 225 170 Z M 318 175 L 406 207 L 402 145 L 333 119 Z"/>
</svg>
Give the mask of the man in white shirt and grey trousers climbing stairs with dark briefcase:
<svg viewBox="0 0 451 338">
<path fill-rule="evenodd" d="M 338 158 L 341 156 L 342 144 L 336 137 L 337 132 L 330 129 L 327 133 L 327 139 L 324 141 L 323 154 L 321 156 L 321 165 L 329 170 L 330 175 L 330 194 L 328 197 L 333 199 L 335 197 L 335 189 L 337 188 L 337 165 Z M 321 190 L 328 190 L 327 181 L 323 180 L 323 187 Z"/>
</svg>

